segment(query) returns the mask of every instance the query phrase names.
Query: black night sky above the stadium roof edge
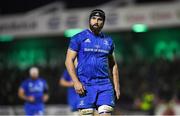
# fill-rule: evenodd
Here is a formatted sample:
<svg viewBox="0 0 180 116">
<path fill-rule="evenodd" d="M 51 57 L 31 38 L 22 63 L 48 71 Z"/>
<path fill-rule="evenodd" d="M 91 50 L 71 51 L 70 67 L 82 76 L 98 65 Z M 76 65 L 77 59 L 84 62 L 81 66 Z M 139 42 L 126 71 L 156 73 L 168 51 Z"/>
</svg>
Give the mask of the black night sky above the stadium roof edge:
<svg viewBox="0 0 180 116">
<path fill-rule="evenodd" d="M 67 9 L 101 5 L 113 0 L 1 0 L 0 15 L 23 13 L 53 2 L 64 2 Z M 135 4 L 172 2 L 175 0 L 132 0 Z"/>
</svg>

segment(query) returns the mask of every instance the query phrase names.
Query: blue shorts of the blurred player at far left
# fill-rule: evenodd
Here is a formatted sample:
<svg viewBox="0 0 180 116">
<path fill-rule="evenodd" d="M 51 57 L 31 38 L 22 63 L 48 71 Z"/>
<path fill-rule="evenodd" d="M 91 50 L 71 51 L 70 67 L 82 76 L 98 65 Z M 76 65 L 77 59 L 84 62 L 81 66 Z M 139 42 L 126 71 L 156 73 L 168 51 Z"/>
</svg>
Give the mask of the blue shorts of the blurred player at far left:
<svg viewBox="0 0 180 116">
<path fill-rule="evenodd" d="M 44 105 L 43 104 L 25 104 L 24 106 L 26 116 L 38 115 L 41 116 L 44 114 Z"/>
</svg>

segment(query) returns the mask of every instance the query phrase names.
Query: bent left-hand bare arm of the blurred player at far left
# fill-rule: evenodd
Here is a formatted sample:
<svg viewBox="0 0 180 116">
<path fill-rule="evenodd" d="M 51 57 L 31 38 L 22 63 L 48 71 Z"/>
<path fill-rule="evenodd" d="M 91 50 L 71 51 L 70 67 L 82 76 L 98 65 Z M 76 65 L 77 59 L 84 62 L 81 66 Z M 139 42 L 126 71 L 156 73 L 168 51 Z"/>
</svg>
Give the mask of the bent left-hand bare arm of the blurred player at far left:
<svg viewBox="0 0 180 116">
<path fill-rule="evenodd" d="M 22 100 L 29 101 L 29 102 L 34 102 L 34 100 L 35 100 L 33 96 L 26 96 L 24 89 L 22 87 L 20 87 L 18 90 L 18 96 Z"/>
</svg>

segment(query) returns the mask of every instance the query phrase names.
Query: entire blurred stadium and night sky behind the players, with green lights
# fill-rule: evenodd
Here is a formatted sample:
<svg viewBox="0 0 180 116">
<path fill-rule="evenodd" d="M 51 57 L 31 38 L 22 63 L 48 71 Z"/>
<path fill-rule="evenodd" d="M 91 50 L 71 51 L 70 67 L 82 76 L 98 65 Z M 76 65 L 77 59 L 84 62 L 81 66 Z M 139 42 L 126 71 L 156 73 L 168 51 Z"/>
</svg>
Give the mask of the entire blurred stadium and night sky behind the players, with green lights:
<svg viewBox="0 0 180 116">
<path fill-rule="evenodd" d="M 121 99 L 114 114 L 180 115 L 179 0 L 4 0 L 0 2 L 0 115 L 23 114 L 19 84 L 38 66 L 50 87 L 47 114 L 70 114 L 58 81 L 70 37 L 106 12 Z"/>
</svg>

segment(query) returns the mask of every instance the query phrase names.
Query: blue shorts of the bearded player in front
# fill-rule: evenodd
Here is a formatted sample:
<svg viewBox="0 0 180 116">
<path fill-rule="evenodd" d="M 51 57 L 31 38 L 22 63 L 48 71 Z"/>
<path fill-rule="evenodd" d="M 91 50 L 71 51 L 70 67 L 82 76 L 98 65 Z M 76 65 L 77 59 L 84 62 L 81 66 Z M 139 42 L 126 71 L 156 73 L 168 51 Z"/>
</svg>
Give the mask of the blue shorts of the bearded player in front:
<svg viewBox="0 0 180 116">
<path fill-rule="evenodd" d="M 85 86 L 84 95 L 78 96 L 78 109 L 97 108 L 101 105 L 114 107 L 115 96 L 112 84 Z"/>
</svg>

